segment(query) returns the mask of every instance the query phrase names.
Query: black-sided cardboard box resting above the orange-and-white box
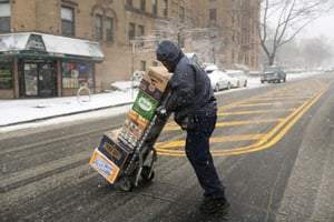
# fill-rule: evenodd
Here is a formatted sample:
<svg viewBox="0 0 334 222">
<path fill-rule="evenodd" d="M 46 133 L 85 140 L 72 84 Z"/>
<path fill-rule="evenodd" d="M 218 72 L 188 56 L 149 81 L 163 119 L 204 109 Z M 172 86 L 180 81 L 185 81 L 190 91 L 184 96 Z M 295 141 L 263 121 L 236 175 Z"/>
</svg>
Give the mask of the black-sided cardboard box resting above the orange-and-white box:
<svg viewBox="0 0 334 222">
<path fill-rule="evenodd" d="M 117 134 L 115 134 L 112 131 L 107 131 L 104 133 L 98 150 L 119 169 L 122 169 L 125 163 L 134 153 L 134 150 L 130 147 L 121 143 L 118 140 Z"/>
</svg>

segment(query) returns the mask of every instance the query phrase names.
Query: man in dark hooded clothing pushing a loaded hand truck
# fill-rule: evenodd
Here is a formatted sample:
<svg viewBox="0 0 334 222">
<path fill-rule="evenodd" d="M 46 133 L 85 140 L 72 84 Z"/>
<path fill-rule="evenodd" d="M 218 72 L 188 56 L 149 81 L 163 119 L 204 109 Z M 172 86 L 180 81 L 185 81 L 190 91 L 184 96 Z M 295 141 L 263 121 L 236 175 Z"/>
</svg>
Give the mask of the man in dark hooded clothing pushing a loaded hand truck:
<svg viewBox="0 0 334 222">
<path fill-rule="evenodd" d="M 157 59 L 173 72 L 169 80 L 171 94 L 166 110 L 174 112 L 175 121 L 187 131 L 186 155 L 204 189 L 200 210 L 205 213 L 225 211 L 229 203 L 209 152 L 209 138 L 217 120 L 217 103 L 210 80 L 171 41 L 163 41 L 156 53 Z"/>
</svg>

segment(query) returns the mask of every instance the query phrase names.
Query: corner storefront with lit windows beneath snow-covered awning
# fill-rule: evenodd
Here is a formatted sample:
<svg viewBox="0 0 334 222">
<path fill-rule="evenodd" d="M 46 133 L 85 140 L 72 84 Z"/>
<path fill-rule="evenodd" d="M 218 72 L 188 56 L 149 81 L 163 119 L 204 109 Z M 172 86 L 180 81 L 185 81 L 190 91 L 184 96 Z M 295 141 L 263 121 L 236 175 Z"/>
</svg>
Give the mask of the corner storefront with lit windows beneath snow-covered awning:
<svg viewBox="0 0 334 222">
<path fill-rule="evenodd" d="M 0 98 L 46 98 L 95 89 L 97 42 L 24 32 L 0 34 Z"/>
</svg>

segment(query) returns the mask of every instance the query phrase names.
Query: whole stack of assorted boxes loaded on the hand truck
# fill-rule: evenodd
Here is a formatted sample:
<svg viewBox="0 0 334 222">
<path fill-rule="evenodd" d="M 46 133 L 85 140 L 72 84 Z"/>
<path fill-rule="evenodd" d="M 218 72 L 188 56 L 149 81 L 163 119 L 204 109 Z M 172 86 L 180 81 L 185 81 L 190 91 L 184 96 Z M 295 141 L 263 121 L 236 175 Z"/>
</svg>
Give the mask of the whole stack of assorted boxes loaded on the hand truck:
<svg viewBox="0 0 334 222">
<path fill-rule="evenodd" d="M 171 74 L 164 67 L 148 68 L 120 132 L 104 133 L 90 164 L 110 183 L 115 182 L 120 170 L 127 165 L 127 161 L 143 139 L 157 107 L 161 103 L 170 77 Z"/>
</svg>

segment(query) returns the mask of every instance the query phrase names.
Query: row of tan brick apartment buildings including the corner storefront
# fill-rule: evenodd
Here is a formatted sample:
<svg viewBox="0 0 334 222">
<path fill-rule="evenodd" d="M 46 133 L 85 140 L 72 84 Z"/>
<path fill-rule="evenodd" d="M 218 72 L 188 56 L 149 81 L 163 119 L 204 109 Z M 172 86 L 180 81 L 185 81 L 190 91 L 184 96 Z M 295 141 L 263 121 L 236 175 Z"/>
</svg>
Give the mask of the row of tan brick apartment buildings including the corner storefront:
<svg viewBox="0 0 334 222">
<path fill-rule="evenodd" d="M 29 3 L 28 3 L 29 2 Z M 164 39 L 222 68 L 258 67 L 255 0 L 0 0 L 0 98 L 94 93 L 159 65 Z"/>
</svg>

